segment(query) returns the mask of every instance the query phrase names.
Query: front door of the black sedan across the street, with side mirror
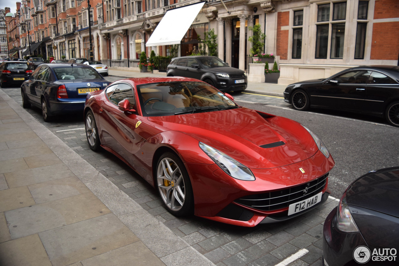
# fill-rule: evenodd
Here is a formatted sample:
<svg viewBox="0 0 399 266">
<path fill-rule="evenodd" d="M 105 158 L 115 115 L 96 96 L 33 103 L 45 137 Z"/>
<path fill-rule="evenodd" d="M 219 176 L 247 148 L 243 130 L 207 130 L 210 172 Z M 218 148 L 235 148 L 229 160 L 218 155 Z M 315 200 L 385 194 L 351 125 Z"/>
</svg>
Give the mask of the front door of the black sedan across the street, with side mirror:
<svg viewBox="0 0 399 266">
<path fill-rule="evenodd" d="M 311 104 L 338 110 L 359 110 L 365 99 L 367 70 L 341 73 L 310 89 Z"/>
</svg>

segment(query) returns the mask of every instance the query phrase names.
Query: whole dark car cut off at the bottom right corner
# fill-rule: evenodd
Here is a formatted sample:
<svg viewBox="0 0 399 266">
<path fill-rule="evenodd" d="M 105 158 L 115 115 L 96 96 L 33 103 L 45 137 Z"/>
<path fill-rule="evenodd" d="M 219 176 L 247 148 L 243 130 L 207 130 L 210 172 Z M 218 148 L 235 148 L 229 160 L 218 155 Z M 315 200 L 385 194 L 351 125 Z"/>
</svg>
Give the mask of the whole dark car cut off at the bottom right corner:
<svg viewBox="0 0 399 266">
<path fill-rule="evenodd" d="M 354 181 L 323 228 L 324 265 L 398 265 L 399 167 Z"/>
</svg>

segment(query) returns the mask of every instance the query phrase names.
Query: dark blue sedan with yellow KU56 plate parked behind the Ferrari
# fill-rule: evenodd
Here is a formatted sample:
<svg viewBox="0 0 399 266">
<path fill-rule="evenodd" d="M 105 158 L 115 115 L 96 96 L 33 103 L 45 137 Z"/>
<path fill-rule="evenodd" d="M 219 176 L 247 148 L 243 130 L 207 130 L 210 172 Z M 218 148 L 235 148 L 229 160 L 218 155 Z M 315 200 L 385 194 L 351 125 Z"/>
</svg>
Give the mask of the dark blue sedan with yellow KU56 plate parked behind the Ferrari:
<svg viewBox="0 0 399 266">
<path fill-rule="evenodd" d="M 109 85 L 95 69 L 83 64 L 42 64 L 22 83 L 22 105 L 41 108 L 44 121 L 69 112 L 83 112 L 88 93 Z"/>
</svg>

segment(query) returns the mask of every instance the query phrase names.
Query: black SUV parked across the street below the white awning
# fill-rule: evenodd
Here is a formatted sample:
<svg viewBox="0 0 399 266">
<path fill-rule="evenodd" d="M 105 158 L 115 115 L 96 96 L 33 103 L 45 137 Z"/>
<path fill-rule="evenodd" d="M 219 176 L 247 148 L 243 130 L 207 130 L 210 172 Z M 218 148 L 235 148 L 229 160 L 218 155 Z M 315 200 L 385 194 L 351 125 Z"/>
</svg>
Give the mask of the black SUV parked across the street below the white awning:
<svg viewBox="0 0 399 266">
<path fill-rule="evenodd" d="M 245 72 L 229 67 L 215 56 L 175 57 L 168 65 L 166 75 L 199 79 L 224 92 L 241 92 L 247 88 Z"/>
</svg>

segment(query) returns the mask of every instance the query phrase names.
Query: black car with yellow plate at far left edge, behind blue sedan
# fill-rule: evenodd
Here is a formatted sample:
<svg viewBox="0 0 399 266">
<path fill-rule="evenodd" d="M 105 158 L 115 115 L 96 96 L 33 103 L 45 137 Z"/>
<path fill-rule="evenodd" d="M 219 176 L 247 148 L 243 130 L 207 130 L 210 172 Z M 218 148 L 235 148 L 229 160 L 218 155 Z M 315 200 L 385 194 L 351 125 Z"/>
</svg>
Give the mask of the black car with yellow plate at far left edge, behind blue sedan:
<svg viewBox="0 0 399 266">
<path fill-rule="evenodd" d="M 28 63 L 4 61 L 0 65 L 0 86 L 4 88 L 11 84 L 21 85 L 31 74 L 32 70 Z"/>
</svg>

